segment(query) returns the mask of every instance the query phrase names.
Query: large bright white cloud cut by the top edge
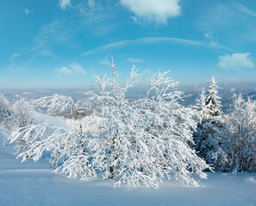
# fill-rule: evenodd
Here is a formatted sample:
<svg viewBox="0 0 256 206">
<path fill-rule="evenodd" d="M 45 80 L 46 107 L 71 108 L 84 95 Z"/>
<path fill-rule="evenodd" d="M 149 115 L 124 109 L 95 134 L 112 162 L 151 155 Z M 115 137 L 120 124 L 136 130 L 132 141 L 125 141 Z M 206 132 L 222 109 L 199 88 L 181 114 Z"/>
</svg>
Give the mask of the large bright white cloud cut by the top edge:
<svg viewBox="0 0 256 206">
<path fill-rule="evenodd" d="M 124 7 L 146 21 L 166 24 L 171 17 L 180 15 L 179 0 L 121 0 Z"/>
</svg>

